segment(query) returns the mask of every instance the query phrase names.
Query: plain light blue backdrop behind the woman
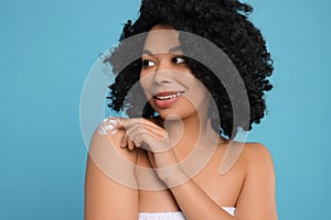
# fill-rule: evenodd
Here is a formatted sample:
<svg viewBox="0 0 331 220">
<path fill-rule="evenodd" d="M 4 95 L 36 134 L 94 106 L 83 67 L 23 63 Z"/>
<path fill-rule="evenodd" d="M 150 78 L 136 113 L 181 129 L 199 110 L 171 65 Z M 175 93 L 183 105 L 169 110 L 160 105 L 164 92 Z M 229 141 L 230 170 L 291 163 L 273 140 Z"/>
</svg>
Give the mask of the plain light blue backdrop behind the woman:
<svg viewBox="0 0 331 220">
<path fill-rule="evenodd" d="M 268 117 L 249 140 L 273 153 L 279 219 L 328 219 L 331 3 L 249 2 L 276 67 Z M 83 219 L 81 91 L 138 6 L 0 1 L 0 219 Z"/>
</svg>

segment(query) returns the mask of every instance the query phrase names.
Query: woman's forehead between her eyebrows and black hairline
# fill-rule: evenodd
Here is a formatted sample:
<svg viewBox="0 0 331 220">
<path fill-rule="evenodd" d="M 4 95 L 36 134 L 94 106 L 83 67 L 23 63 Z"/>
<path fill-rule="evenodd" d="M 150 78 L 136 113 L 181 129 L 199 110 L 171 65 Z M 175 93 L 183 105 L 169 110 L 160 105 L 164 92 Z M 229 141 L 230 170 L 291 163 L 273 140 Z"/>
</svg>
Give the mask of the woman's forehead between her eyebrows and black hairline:
<svg viewBox="0 0 331 220">
<path fill-rule="evenodd" d="M 173 48 L 180 46 L 179 35 L 174 29 L 153 28 L 147 34 L 143 51 L 149 51 L 152 54 L 172 52 Z"/>
</svg>

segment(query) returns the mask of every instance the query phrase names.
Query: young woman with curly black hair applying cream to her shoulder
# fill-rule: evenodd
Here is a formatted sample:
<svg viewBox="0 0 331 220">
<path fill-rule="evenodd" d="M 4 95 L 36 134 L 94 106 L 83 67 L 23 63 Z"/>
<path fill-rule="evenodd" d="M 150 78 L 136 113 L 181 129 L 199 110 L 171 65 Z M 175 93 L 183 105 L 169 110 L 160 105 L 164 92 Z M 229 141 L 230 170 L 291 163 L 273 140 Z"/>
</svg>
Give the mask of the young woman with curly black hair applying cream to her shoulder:
<svg viewBox="0 0 331 220">
<path fill-rule="evenodd" d="M 236 0 L 142 1 L 106 59 L 118 73 L 109 107 L 129 118 L 106 119 L 94 134 L 85 219 L 277 219 L 269 152 L 234 141 L 259 123 L 271 89 L 250 11 Z"/>
</svg>

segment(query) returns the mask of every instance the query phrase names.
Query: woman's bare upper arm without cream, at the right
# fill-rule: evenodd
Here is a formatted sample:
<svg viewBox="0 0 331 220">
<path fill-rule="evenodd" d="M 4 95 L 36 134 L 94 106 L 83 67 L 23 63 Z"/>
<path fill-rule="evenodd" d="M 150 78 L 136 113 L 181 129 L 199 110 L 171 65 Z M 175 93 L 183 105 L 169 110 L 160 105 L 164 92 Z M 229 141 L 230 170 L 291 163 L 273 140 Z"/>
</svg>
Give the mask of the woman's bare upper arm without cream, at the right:
<svg viewBox="0 0 331 220">
<path fill-rule="evenodd" d="M 236 217 L 244 220 L 275 220 L 277 211 L 271 155 L 260 144 L 248 144 L 246 151 L 246 178 L 237 201 Z"/>
</svg>

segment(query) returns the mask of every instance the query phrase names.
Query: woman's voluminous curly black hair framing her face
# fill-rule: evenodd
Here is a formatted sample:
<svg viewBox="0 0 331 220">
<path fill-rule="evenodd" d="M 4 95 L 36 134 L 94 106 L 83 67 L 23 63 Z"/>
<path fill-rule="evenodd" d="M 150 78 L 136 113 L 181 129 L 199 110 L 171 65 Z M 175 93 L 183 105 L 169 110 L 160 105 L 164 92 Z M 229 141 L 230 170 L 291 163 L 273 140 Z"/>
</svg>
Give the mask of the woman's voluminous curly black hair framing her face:
<svg viewBox="0 0 331 220">
<path fill-rule="evenodd" d="M 186 54 L 184 52 L 192 73 L 209 89 L 216 103 L 217 116 L 211 112 L 210 117 L 220 120 L 212 119 L 213 129 L 220 132 L 220 135 L 229 139 L 234 138 L 239 127 L 245 131 L 252 130 L 252 124 L 259 123 L 265 116 L 264 95 L 273 88 L 267 77 L 271 76 L 274 70 L 264 37 L 248 20 L 252 12 L 250 6 L 237 0 L 142 0 L 139 18 L 136 22 L 129 20 L 125 24 L 119 45 L 113 48 L 110 56 L 105 59 L 111 64 L 113 72 L 118 74 L 115 82 L 109 86 L 110 96 L 107 98 L 111 99 L 111 102 L 108 107 L 116 111 L 125 110 L 129 117 L 156 116 L 148 102 L 141 103 L 145 95 L 139 86 L 135 86 L 140 76 L 141 57 L 130 57 L 130 54 L 141 53 L 145 38 L 134 44 L 126 43 L 125 40 L 146 33 L 156 24 L 162 23 L 204 37 L 227 55 L 244 81 L 249 103 L 245 103 L 241 98 L 231 99 L 225 85 L 217 76 L 200 62 L 190 58 L 186 55 L 190 54 L 189 50 Z M 181 44 L 184 45 L 185 42 L 181 41 Z M 196 51 L 199 46 L 192 53 L 203 53 Z M 215 63 L 217 58 L 213 57 Z M 134 62 L 126 65 L 128 61 Z M 247 119 L 241 117 L 238 123 L 234 124 L 233 108 L 241 109 L 247 106 L 248 124 L 245 124 Z"/>
</svg>

